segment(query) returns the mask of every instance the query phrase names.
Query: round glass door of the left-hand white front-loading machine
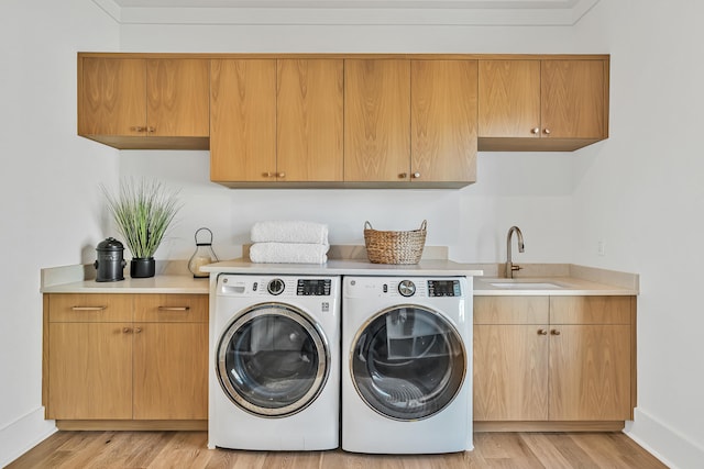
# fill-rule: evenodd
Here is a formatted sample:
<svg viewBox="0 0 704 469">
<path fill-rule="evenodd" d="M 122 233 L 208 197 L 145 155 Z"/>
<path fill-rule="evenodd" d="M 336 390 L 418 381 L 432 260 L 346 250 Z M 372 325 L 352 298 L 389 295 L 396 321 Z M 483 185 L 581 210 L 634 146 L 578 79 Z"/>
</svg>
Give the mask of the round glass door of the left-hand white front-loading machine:
<svg viewBox="0 0 704 469">
<path fill-rule="evenodd" d="M 318 397 L 328 378 L 330 351 L 306 313 L 263 303 L 230 323 L 216 350 L 216 368 L 232 402 L 255 415 L 283 417 Z"/>
</svg>

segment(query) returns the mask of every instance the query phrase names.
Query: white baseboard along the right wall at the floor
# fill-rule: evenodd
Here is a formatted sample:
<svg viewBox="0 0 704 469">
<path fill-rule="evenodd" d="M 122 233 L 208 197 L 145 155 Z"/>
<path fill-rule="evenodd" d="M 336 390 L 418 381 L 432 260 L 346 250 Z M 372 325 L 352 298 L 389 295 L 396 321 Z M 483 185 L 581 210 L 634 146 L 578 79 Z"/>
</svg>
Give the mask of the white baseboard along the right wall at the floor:
<svg viewBox="0 0 704 469">
<path fill-rule="evenodd" d="M 704 448 L 636 407 L 624 433 L 671 469 L 701 468 Z"/>
</svg>

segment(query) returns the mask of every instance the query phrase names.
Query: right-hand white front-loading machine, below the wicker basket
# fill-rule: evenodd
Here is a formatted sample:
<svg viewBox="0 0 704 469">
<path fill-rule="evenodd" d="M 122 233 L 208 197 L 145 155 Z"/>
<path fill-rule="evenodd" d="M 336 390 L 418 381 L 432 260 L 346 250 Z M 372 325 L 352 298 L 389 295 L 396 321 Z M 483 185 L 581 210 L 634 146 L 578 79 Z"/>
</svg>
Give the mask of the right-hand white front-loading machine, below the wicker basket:
<svg viewBox="0 0 704 469">
<path fill-rule="evenodd" d="M 343 277 L 342 449 L 473 449 L 472 282 Z"/>
</svg>

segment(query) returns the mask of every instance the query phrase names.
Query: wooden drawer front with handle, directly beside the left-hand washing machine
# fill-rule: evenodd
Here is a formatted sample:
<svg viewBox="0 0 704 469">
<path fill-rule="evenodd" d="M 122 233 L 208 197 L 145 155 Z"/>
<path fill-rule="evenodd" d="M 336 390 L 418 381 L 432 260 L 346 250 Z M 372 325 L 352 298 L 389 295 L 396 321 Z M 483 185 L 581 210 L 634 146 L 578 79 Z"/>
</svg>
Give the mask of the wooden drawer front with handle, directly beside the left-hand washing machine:
<svg viewBox="0 0 704 469">
<path fill-rule="evenodd" d="M 207 294 L 136 294 L 134 321 L 143 323 L 207 323 Z"/>
</svg>

